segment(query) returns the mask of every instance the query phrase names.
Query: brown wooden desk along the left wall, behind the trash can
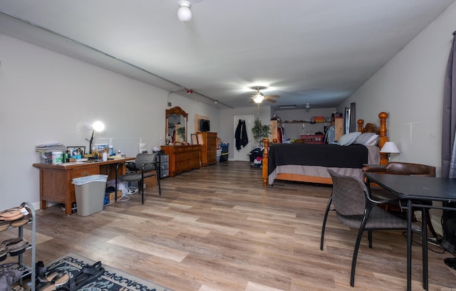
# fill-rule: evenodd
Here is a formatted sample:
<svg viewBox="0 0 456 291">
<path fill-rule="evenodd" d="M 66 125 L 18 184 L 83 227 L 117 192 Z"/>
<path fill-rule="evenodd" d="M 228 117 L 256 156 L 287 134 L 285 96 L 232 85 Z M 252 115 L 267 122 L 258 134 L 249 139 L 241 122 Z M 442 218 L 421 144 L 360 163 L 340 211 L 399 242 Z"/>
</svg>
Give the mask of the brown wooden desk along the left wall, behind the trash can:
<svg viewBox="0 0 456 291">
<path fill-rule="evenodd" d="M 125 161 L 135 158 L 115 159 L 106 162 L 81 162 L 64 164 L 33 164 L 40 170 L 40 201 L 41 210 L 46 209 L 46 201 L 65 204 L 65 214 L 71 214 L 71 203 L 76 202 L 74 185 L 71 181 L 75 178 L 89 175 L 108 175 L 109 179 L 115 179 L 115 166 L 119 167 L 119 173 L 125 174 Z"/>
</svg>

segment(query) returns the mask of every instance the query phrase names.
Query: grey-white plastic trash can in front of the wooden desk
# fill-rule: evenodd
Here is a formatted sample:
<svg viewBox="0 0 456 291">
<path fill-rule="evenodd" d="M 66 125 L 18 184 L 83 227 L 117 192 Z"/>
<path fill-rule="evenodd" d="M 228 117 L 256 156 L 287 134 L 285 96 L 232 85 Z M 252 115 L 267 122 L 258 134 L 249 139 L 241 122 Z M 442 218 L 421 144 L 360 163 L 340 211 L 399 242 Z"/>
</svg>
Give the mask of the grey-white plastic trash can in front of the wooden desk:
<svg viewBox="0 0 456 291">
<path fill-rule="evenodd" d="M 71 182 L 76 192 L 76 206 L 79 216 L 89 216 L 102 211 L 108 175 L 92 175 L 75 178 Z"/>
</svg>

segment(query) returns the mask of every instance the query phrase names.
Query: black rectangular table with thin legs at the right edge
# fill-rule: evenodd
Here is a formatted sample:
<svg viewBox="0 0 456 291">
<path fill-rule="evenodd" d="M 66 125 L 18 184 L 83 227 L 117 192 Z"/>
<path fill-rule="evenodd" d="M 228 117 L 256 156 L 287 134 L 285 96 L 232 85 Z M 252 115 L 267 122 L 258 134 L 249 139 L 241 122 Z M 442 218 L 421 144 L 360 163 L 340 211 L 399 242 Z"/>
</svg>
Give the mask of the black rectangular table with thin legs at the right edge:
<svg viewBox="0 0 456 291">
<path fill-rule="evenodd" d="M 422 202 L 429 201 L 456 201 L 456 179 L 436 178 L 431 176 L 408 176 L 408 175 L 385 175 L 364 174 L 367 184 L 370 181 L 382 186 L 399 199 L 407 201 L 407 290 L 412 290 L 412 208 L 440 208 L 452 209 L 427 205 Z M 427 226 L 426 211 L 422 211 L 422 224 Z M 427 231 L 422 231 L 423 242 L 427 242 Z M 428 289 L 427 279 L 427 243 L 423 243 L 423 289 Z"/>
</svg>

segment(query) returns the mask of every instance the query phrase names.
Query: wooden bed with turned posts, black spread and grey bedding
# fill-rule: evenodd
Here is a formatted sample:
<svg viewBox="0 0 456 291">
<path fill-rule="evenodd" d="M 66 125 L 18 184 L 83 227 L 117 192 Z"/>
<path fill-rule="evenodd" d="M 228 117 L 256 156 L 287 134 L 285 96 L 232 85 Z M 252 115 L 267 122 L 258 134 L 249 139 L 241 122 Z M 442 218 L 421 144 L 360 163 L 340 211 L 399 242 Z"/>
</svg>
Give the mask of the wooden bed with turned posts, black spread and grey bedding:
<svg viewBox="0 0 456 291">
<path fill-rule="evenodd" d="M 388 142 L 386 120 L 388 113 L 380 112 L 380 127 L 372 123 L 364 126 L 358 120 L 358 132 L 378 134 L 378 145 L 351 144 L 269 144 L 264 139 L 262 162 L 263 186 L 274 185 L 274 181 L 301 181 L 318 184 L 332 184 L 327 169 L 339 174 L 363 178 L 363 164 L 388 164 L 386 154 L 380 153 L 381 147 Z"/>
</svg>

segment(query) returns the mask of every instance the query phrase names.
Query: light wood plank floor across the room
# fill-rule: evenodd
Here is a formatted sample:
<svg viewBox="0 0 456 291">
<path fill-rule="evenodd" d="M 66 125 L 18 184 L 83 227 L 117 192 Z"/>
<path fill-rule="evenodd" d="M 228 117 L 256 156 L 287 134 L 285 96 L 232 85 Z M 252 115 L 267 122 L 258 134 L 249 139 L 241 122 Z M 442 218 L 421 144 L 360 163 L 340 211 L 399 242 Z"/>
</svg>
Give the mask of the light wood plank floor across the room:
<svg viewBox="0 0 456 291">
<path fill-rule="evenodd" d="M 260 169 L 226 162 L 162 179 L 90 216 L 38 211 L 37 260 L 73 252 L 173 290 L 405 290 L 402 231 L 365 236 L 355 287 L 349 285 L 356 230 L 330 213 L 319 249 L 329 186 L 277 182 L 264 188 Z M 438 248 L 435 248 L 439 250 Z M 439 250 L 440 251 L 440 250 Z M 456 272 L 429 253 L 430 290 L 456 290 Z M 421 248 L 413 247 L 413 290 L 423 290 Z"/>
</svg>

